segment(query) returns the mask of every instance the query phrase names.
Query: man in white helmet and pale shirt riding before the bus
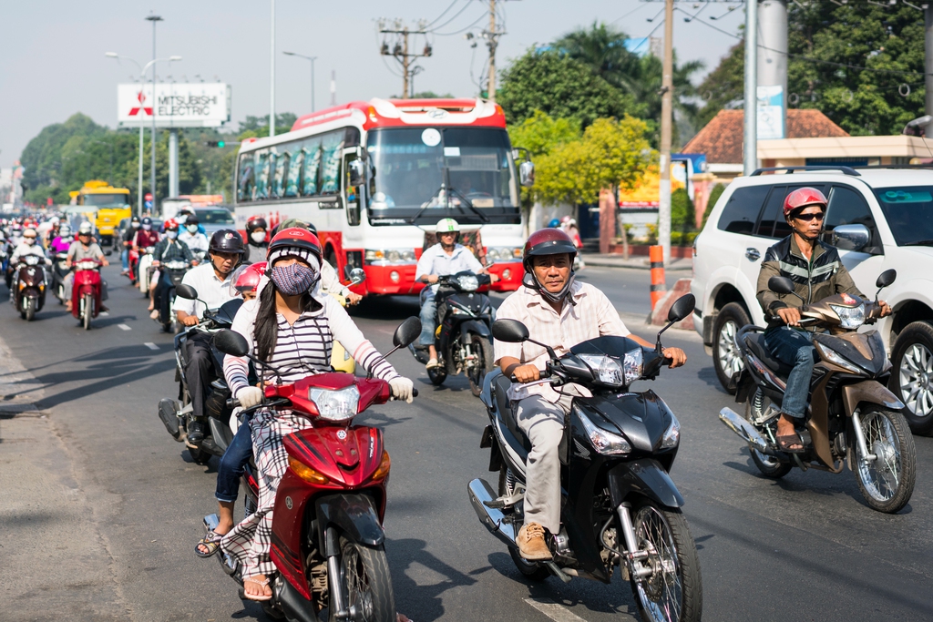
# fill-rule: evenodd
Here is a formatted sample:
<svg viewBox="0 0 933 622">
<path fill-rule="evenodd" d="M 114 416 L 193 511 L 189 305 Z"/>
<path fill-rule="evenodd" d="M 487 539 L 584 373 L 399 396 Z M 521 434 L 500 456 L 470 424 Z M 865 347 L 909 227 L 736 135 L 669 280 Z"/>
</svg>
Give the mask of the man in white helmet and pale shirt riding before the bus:
<svg viewBox="0 0 933 622">
<path fill-rule="evenodd" d="M 458 244 L 460 225 L 453 218 L 442 218 L 436 229 L 438 243 L 422 253 L 418 259 L 418 267 L 414 271 L 414 280 L 427 283 L 421 290 L 421 339 L 418 339 L 422 348 L 429 353 L 428 369 L 439 365 L 438 349 L 434 347 L 434 333 L 438 328 L 438 303 L 435 299 L 438 293 L 438 280 L 442 276 L 456 274 L 469 270 L 474 274 L 485 274 L 486 269 L 463 244 Z M 496 281 L 494 274 L 490 275 Z"/>
</svg>

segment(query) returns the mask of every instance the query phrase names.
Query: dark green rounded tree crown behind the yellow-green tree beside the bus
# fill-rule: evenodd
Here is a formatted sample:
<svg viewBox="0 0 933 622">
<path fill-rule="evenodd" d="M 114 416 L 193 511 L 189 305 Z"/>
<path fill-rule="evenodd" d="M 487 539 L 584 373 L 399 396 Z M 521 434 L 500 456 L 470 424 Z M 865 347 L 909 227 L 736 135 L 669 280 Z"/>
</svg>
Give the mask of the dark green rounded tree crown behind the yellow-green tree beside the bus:
<svg viewBox="0 0 933 622">
<path fill-rule="evenodd" d="M 554 50 L 537 52 L 534 48 L 503 71 L 496 102 L 511 124 L 522 124 L 541 110 L 550 117 L 575 118 L 586 127 L 599 117 L 621 118 L 638 110 L 631 95 L 586 64 Z"/>
</svg>

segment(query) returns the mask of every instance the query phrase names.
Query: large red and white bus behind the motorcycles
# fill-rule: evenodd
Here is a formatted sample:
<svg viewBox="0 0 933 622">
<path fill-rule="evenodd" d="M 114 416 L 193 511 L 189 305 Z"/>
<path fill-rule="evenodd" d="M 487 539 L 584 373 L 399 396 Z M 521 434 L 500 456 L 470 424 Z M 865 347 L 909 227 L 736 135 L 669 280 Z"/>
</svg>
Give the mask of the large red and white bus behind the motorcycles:
<svg viewBox="0 0 933 622">
<path fill-rule="evenodd" d="M 534 169 L 522 162 L 522 182 Z M 236 222 L 311 222 L 325 258 L 362 268 L 360 293 L 416 294 L 426 235 L 444 217 L 501 279 L 522 282 L 519 169 L 502 108 L 482 100 L 353 102 L 299 117 L 288 133 L 244 141 L 236 164 Z M 479 231 L 479 235 L 475 232 Z M 245 239 L 245 238 L 244 238 Z M 484 257 L 483 257 L 484 255 Z"/>
</svg>

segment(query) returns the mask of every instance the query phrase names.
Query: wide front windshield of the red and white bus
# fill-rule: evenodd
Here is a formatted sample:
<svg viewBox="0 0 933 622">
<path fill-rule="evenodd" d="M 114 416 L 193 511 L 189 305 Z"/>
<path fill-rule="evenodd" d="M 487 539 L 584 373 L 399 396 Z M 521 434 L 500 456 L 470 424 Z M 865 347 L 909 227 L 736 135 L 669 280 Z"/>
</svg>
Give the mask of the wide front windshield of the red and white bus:
<svg viewBox="0 0 933 622">
<path fill-rule="evenodd" d="M 508 134 L 490 128 L 383 128 L 369 132 L 369 211 L 374 219 L 444 215 L 512 222 L 519 214 Z M 447 185 L 447 192 L 442 186 Z M 439 211 L 453 214 L 439 214 Z M 483 213 L 480 217 L 477 212 Z M 506 220 L 503 220 L 503 216 Z"/>
</svg>

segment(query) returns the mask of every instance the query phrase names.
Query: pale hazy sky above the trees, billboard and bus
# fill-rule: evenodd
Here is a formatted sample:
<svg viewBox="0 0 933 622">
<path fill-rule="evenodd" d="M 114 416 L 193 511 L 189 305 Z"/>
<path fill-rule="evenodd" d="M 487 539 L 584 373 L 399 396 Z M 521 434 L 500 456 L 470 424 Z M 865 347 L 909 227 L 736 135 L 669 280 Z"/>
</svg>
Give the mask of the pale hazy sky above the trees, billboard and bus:
<svg viewBox="0 0 933 622">
<path fill-rule="evenodd" d="M 497 4 L 503 5 L 501 0 Z M 742 7 L 689 2 L 678 2 L 677 7 L 678 60 L 701 59 L 706 71 L 714 69 L 736 39 L 709 24 L 737 33 L 744 20 Z M 729 12 L 729 7 L 735 10 Z M 470 48 L 464 35 L 488 28 L 488 8 L 486 0 L 277 0 L 276 111 L 311 111 L 310 63 L 283 51 L 317 57 L 319 110 L 330 102 L 331 72 L 336 72 L 339 104 L 400 93 L 397 62 L 379 54 L 379 18 L 398 18 L 411 26 L 421 19 L 431 24 L 433 55 L 419 60 L 424 71 L 414 78 L 415 90 L 474 96 L 488 50 L 481 41 Z M 496 51 L 500 69 L 527 48 L 593 21 L 611 23 L 631 37 L 663 35 L 661 2 L 508 0 L 503 9 L 506 34 Z M 685 21 L 700 9 L 698 19 Z M 160 79 L 230 84 L 233 129 L 247 115 L 269 114 L 271 0 L 11 0 L 0 11 L 0 166 L 19 159 L 42 128 L 77 112 L 116 127 L 117 84 L 131 82 L 139 72 L 131 62 L 118 63 L 104 53 L 148 62 L 152 28 L 145 18 L 151 12 L 164 20 L 157 26 L 157 55 L 183 57 L 171 65 L 158 64 Z M 424 44 L 419 36 L 412 45 L 420 49 Z"/>
</svg>

